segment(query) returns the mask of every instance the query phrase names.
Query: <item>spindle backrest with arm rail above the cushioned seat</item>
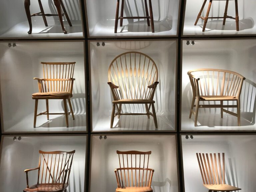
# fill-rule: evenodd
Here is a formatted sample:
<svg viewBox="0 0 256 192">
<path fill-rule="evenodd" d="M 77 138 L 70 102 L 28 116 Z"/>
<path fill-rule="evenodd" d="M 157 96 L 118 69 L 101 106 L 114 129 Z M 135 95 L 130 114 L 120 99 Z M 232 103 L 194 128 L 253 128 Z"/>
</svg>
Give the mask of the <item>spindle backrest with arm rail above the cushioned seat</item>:
<svg viewBox="0 0 256 192">
<path fill-rule="evenodd" d="M 41 62 L 43 79 L 38 79 L 39 92 L 70 92 L 73 90 L 76 62 Z"/>
</svg>

